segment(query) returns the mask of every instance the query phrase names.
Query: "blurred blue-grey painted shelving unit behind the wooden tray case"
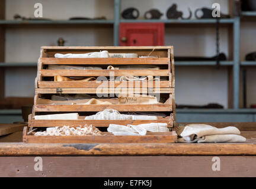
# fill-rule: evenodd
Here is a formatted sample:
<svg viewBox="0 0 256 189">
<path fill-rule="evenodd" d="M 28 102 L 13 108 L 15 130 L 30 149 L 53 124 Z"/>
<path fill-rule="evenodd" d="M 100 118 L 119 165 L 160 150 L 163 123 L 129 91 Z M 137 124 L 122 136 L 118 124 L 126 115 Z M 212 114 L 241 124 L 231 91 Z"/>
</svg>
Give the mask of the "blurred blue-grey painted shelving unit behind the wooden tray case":
<svg viewBox="0 0 256 189">
<path fill-rule="evenodd" d="M 23 0 L 24 1 L 24 0 Z M 201 0 L 203 1 L 203 0 Z M 235 0 L 227 0 L 230 3 L 228 4 L 228 11 L 229 14 L 232 12 L 232 2 Z M 5 2 L 7 4 L 7 0 L 0 0 L 0 2 Z M 75 1 L 74 1 L 75 2 Z M 152 22 L 157 22 L 161 23 L 164 22 L 166 31 L 170 32 L 171 34 L 174 34 L 176 37 L 176 34 L 180 37 L 181 35 L 185 34 L 186 31 L 190 30 L 191 27 L 196 28 L 197 30 L 200 31 L 202 30 L 203 35 L 208 35 L 209 33 L 215 37 L 215 28 L 216 28 L 216 19 L 123 19 L 121 18 L 121 3 L 124 1 L 121 0 L 113 0 L 111 1 L 111 8 L 113 8 L 113 17 L 109 17 L 111 19 L 90 19 L 90 20 L 69 20 L 69 19 L 54 19 L 50 21 L 34 21 L 34 20 L 28 20 L 28 21 L 21 21 L 21 20 L 12 20 L 12 17 L 5 18 L 5 14 L 7 14 L 6 6 L 0 7 L 0 40 L 4 41 L 5 35 L 17 35 L 19 36 L 19 32 L 21 32 L 23 35 L 21 37 L 24 37 L 24 33 L 29 31 L 30 34 L 34 34 L 39 37 L 40 35 L 37 35 L 36 32 L 40 31 L 41 28 L 43 28 L 43 32 L 51 32 L 50 34 L 56 34 L 56 32 L 60 32 L 60 36 L 57 37 L 62 37 L 62 35 L 65 33 L 65 31 L 69 31 L 69 28 L 72 28 L 72 30 L 69 31 L 69 34 L 72 35 L 73 38 L 76 38 L 76 31 L 79 31 L 80 28 L 86 28 L 85 30 L 81 30 L 80 32 L 82 33 L 83 36 L 86 37 L 87 35 L 87 30 L 91 30 L 94 28 L 108 28 L 108 34 L 105 34 L 104 32 L 99 32 L 100 37 L 97 36 L 98 40 L 102 40 L 104 37 L 110 38 L 110 42 L 113 42 L 113 45 L 119 45 L 120 37 L 119 36 L 119 24 L 120 23 L 152 23 Z M 148 1 L 144 1 L 147 2 Z M 180 1 L 176 1 L 177 3 L 180 4 Z M 205 1 L 203 1 L 205 2 Z M 127 2 L 125 2 L 127 4 Z M 175 3 L 175 2 L 173 2 Z M 102 2 L 100 3 L 102 4 Z M 105 2 L 105 4 L 108 4 L 108 2 Z M 131 1 L 131 6 L 136 6 L 132 5 Z M 139 4 L 139 2 L 138 2 Z M 140 2 L 140 4 L 142 4 Z M 171 5 L 172 2 L 169 4 Z M 12 4 L 13 5 L 13 4 Z M 200 4 L 201 5 L 201 4 Z M 210 5 L 210 4 L 209 4 Z M 8 1 L 8 6 L 10 6 L 10 3 Z M 109 5 L 110 6 L 110 5 Z M 202 5 L 203 6 L 203 5 Z M 185 5 L 184 11 L 187 11 L 187 5 Z M 200 7 L 200 6 L 199 6 Z M 84 7 L 85 8 L 85 7 Z M 138 9 L 141 9 L 141 7 L 137 7 Z M 166 7 L 168 8 L 168 7 Z M 111 9 L 110 9 L 111 10 Z M 163 12 L 163 10 L 161 10 Z M 17 12 L 15 12 L 17 13 Z M 76 12 L 75 12 L 76 13 Z M 165 12 L 163 12 L 165 14 Z M 101 14 L 101 12 L 100 12 Z M 104 14 L 104 13 L 103 13 Z M 110 14 L 111 15 L 111 14 Z M 24 16 L 27 16 L 24 14 Z M 143 17 L 143 15 L 141 15 Z M 62 17 L 61 17 L 62 18 Z M 140 17 L 141 18 L 141 17 Z M 247 22 L 248 20 L 254 21 L 256 18 L 256 12 L 242 12 L 242 17 L 233 17 L 231 18 L 225 18 L 225 19 L 220 19 L 220 27 L 222 30 L 220 30 L 221 34 L 224 30 L 226 30 L 227 35 L 224 35 L 228 40 L 226 45 L 228 46 L 228 61 L 220 61 L 220 67 L 218 71 L 226 69 L 226 75 L 225 78 L 228 80 L 228 89 L 226 89 L 226 96 L 228 96 L 228 108 L 229 109 L 178 109 L 177 110 L 177 122 L 232 122 L 232 121 L 246 121 L 246 122 L 252 122 L 255 121 L 255 114 L 256 110 L 254 109 L 241 109 L 241 97 L 239 98 L 239 94 L 241 96 L 242 94 L 242 79 L 239 78 L 240 73 L 241 73 L 241 67 L 244 66 L 251 66 L 250 69 L 252 69 L 252 66 L 256 66 L 256 61 L 242 61 L 244 57 L 241 57 L 241 43 L 240 43 L 240 38 L 241 38 L 241 30 L 242 27 L 244 27 L 242 24 L 243 22 Z M 58 27 L 57 27 L 58 26 Z M 227 27 L 226 27 L 227 26 Z M 29 28 L 28 30 L 24 30 L 24 28 Z M 62 28 L 61 28 L 62 27 Z M 224 28 L 226 27 L 226 28 Z M 175 30 L 175 28 L 182 28 L 183 32 L 180 34 Z M 193 31 L 194 31 L 194 28 Z M 16 30 L 17 29 L 17 30 Z M 63 34 L 62 34 L 63 30 Z M 95 29 L 97 30 L 97 29 Z M 74 31 L 74 32 L 73 32 Z M 24 32 L 24 33 L 23 33 Z M 89 32 L 94 32 L 94 30 L 89 31 Z M 174 33 L 175 32 L 175 33 Z M 80 33 L 80 34 L 81 34 Z M 110 34 L 109 34 L 110 33 Z M 89 33 L 90 34 L 90 33 Z M 199 32 L 198 35 L 201 33 Z M 112 35 L 112 36 L 111 36 Z M 64 38 L 68 35 L 64 35 Z M 172 44 L 172 41 L 170 40 L 173 38 L 168 37 L 167 39 L 167 45 Z M 17 40 L 17 39 L 16 39 Z M 54 39 L 55 40 L 55 39 Z M 186 38 L 184 39 L 184 41 Z M 207 36 L 203 38 L 203 43 L 206 43 L 207 41 Z M 22 40 L 21 40 L 22 41 Z M 56 38 L 57 41 L 57 38 Z M 56 43 L 55 41 L 55 43 Z M 23 41 L 24 42 L 24 41 Z M 76 42 L 79 43 L 79 41 L 76 39 Z M 196 48 L 197 46 L 197 41 L 194 41 L 194 47 Z M 69 43 L 69 41 L 68 41 Z M 220 41 L 222 43 L 222 41 Z M 29 41 L 28 41 L 29 44 Z M 19 47 L 21 44 L 17 44 L 17 47 Z M 25 44 L 27 45 L 27 44 Z M 24 45 L 24 46 L 25 46 Z M 108 45 L 108 44 L 106 44 Z M 212 47 L 215 50 L 215 44 L 213 43 L 212 46 L 209 44 L 203 44 L 203 47 L 209 48 Z M 34 47 L 28 47 L 28 48 L 34 48 Z M 17 49 L 16 49 L 17 50 Z M 177 48 L 174 47 L 174 54 L 177 55 L 176 51 Z M 213 50 L 213 51 L 214 51 Z M 8 60 L 5 60 L 4 54 L 7 51 L 7 41 L 5 43 L 0 44 L 0 81 L 1 79 L 4 78 L 4 75 L 7 74 L 14 74 L 16 78 L 19 78 L 20 75 L 25 75 L 27 74 L 27 70 L 30 70 L 30 73 L 36 73 L 36 67 L 37 63 L 33 62 L 35 60 L 31 60 L 31 62 L 25 62 L 29 60 L 25 60 L 22 62 L 21 60 L 17 60 L 17 62 L 5 62 Z M 15 50 L 14 50 L 15 53 Z M 204 52 L 205 54 L 206 51 Z M 200 53 L 199 53 L 200 54 Z M 202 53 L 203 54 L 203 53 Z M 208 53 L 209 54 L 209 53 Z M 186 56 L 186 52 L 184 52 L 184 56 Z M 15 60 L 10 60 L 10 61 L 15 61 Z M 21 62 L 18 62 L 21 61 Z M 187 68 L 186 66 L 195 66 L 197 68 L 203 67 L 203 71 L 209 71 L 209 73 L 216 74 L 214 66 L 216 66 L 217 63 L 216 61 L 175 61 L 175 66 L 177 66 L 177 71 L 180 71 L 180 73 L 189 73 L 185 72 Z M 182 68 L 180 68 L 182 67 Z M 190 68 L 188 68 L 190 69 Z M 214 70 L 215 69 L 215 70 Z M 184 71 L 184 72 L 183 72 Z M 190 70 L 188 70 L 190 71 Z M 216 71 L 216 72 L 215 72 Z M 191 73 L 192 73 L 191 69 Z M 177 73 L 176 73 L 177 74 Z M 193 73 L 192 73 L 193 74 Z M 196 73 L 198 74 L 198 72 Z M 193 75 L 193 77 L 196 74 Z M 204 74 L 206 76 L 206 74 Z M 219 74 L 218 74 L 219 76 Z M 180 76 L 183 77 L 183 76 Z M 224 79 L 225 80 L 225 79 Z M 225 81 L 222 82 L 226 82 Z M 18 79 L 14 80 L 14 82 L 17 82 Z M 5 78 L 4 78 L 4 82 Z M 31 83 L 33 84 L 34 78 L 31 80 Z M 200 86 L 200 83 L 191 83 L 191 86 L 195 84 Z M 204 83 L 205 84 L 205 83 Z M 209 84 L 211 85 L 211 83 Z M 222 83 L 220 82 L 220 86 Z M 32 86 L 32 85 L 31 85 Z M 240 87 L 239 87 L 240 86 Z M 2 94 L 1 90 L 4 89 L 4 87 L 10 87 L 10 86 L 5 86 L 5 83 L 0 82 L 0 98 L 4 97 Z M 219 88 L 217 88 L 219 89 Z M 176 90 L 178 87 L 176 87 Z M 186 89 L 184 89 L 184 93 L 186 93 Z M 240 106 L 239 106 L 240 105 Z M 21 110 L 20 109 L 0 109 L 0 122 L 8 122 L 11 123 L 13 121 L 21 121 Z"/>
</svg>

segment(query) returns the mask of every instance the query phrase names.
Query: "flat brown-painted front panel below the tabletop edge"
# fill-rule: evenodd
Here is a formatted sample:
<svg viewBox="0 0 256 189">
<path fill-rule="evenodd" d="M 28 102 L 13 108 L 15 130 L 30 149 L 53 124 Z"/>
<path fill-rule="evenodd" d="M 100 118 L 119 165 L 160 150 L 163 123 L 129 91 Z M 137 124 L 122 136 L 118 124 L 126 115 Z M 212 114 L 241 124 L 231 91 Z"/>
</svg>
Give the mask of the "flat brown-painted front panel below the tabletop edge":
<svg viewBox="0 0 256 189">
<path fill-rule="evenodd" d="M 220 157 L 213 171 L 212 156 L 183 157 L 0 157 L 0 177 L 255 177 L 255 156 Z M 21 163 L 22 162 L 22 163 Z M 125 171 L 124 171 L 125 170 Z M 110 179 L 111 180 L 111 179 Z M 153 183 L 152 183 L 153 184 Z M 100 184 L 103 186 L 103 183 Z M 97 188 L 98 183 L 95 184 Z M 103 188 L 103 187 L 99 187 Z"/>
</svg>

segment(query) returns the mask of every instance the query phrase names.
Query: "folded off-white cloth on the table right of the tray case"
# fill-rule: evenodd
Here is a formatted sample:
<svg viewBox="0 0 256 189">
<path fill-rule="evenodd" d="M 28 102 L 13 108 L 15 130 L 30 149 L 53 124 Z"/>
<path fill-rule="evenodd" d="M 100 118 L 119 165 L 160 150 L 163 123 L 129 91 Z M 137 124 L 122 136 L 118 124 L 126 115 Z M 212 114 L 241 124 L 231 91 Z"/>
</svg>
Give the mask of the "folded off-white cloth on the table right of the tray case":
<svg viewBox="0 0 256 189">
<path fill-rule="evenodd" d="M 234 126 L 216 128 L 206 124 L 188 124 L 176 128 L 182 138 L 178 142 L 245 142 L 240 131 Z"/>
</svg>

